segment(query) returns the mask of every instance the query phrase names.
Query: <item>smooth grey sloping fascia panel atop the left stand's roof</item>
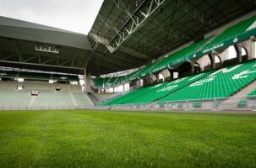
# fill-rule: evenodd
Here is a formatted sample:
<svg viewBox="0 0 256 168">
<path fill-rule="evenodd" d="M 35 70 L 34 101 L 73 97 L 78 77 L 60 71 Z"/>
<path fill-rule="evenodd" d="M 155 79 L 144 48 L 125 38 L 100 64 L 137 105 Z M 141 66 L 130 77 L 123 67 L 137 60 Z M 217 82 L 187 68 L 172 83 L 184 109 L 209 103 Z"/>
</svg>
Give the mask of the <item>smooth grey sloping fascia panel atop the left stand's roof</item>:
<svg viewBox="0 0 256 168">
<path fill-rule="evenodd" d="M 0 36 L 91 50 L 90 43 L 84 34 L 33 24 L 14 18 L 0 17 Z"/>
</svg>

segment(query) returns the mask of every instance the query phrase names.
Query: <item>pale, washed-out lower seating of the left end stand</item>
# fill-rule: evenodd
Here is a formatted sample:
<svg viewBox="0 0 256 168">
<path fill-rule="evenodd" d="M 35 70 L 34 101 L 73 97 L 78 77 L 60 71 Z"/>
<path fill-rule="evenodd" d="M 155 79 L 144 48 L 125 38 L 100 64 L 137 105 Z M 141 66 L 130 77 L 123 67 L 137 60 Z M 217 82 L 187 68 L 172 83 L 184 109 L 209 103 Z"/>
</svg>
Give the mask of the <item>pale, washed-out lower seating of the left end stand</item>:
<svg viewBox="0 0 256 168">
<path fill-rule="evenodd" d="M 23 86 L 17 90 L 17 85 Z M 55 85 L 46 81 L 0 81 L 0 108 L 84 108 L 92 106 L 89 97 L 82 92 L 80 86 L 58 84 L 60 91 L 55 91 Z M 36 90 L 38 96 L 31 96 Z"/>
</svg>

